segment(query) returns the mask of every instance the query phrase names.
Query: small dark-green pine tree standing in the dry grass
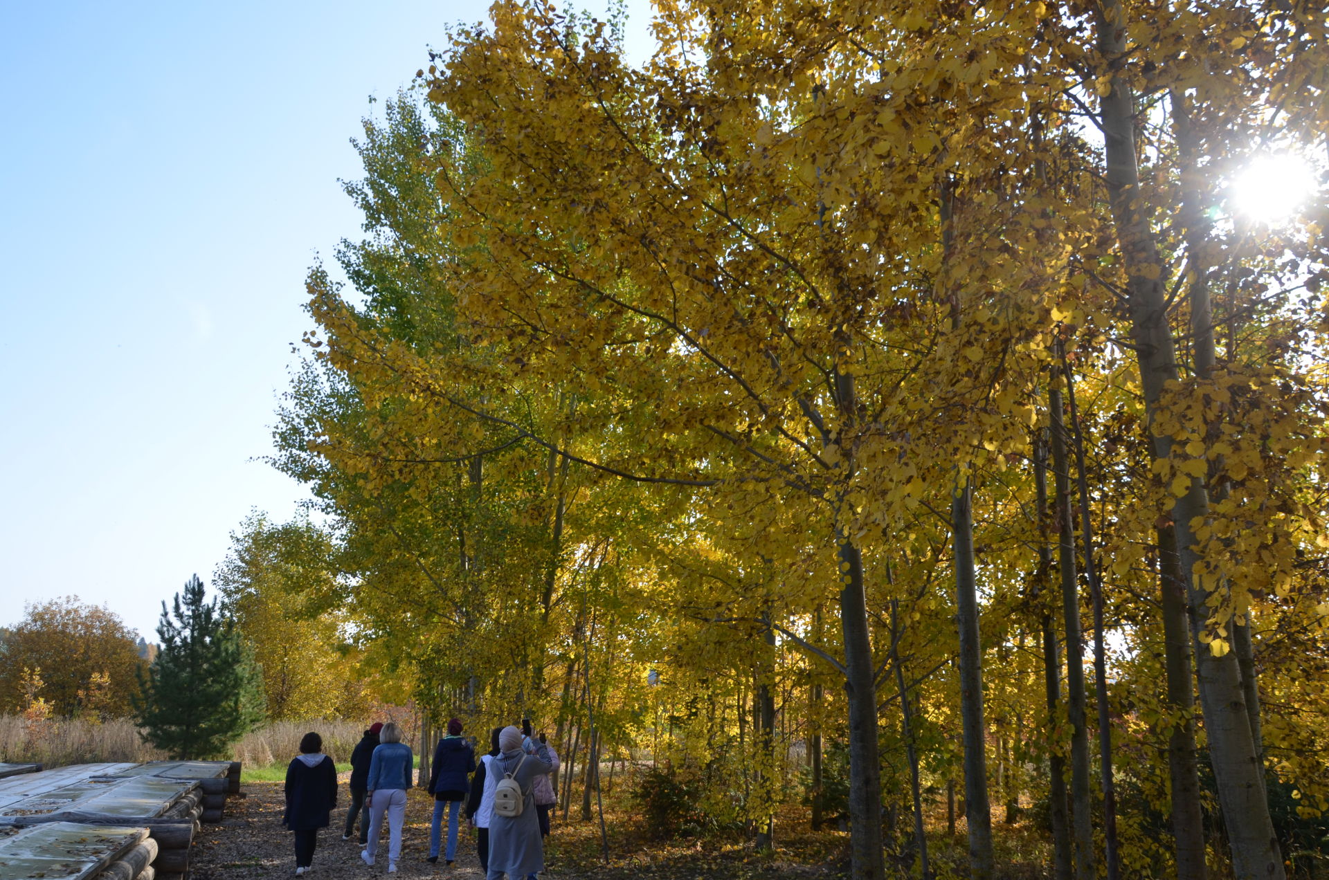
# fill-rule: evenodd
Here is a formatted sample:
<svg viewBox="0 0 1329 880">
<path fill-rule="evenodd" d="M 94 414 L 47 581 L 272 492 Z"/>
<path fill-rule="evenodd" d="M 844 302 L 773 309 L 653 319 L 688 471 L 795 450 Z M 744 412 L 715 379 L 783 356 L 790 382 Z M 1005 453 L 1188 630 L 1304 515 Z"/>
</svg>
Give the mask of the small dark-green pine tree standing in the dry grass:
<svg viewBox="0 0 1329 880">
<path fill-rule="evenodd" d="M 174 618 L 174 619 L 173 619 Z M 134 701 L 144 739 L 175 758 L 213 758 L 264 718 L 263 677 L 235 623 L 195 574 L 157 625 L 161 649 Z"/>
</svg>

